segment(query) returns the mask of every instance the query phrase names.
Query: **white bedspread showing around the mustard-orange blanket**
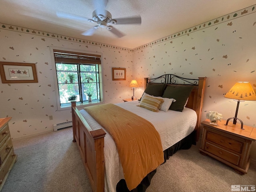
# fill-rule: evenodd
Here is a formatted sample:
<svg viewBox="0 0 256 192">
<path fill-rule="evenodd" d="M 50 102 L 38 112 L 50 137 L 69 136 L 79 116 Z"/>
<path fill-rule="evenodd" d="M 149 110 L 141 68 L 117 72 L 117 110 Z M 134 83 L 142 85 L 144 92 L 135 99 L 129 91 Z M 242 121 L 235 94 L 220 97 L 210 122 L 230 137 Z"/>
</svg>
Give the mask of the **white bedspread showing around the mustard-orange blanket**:
<svg viewBox="0 0 256 192">
<path fill-rule="evenodd" d="M 150 121 L 160 134 L 163 150 L 188 136 L 196 126 L 197 116 L 196 112 L 192 109 L 184 108 L 183 112 L 173 110 L 168 110 L 168 112 L 152 112 L 138 107 L 138 104 L 136 100 L 116 105 Z M 93 130 L 102 128 L 85 110 L 80 110 L 80 113 Z M 105 192 L 115 192 L 116 184 L 121 179 L 124 179 L 124 175 L 114 140 L 105 129 L 104 131 L 106 132 L 104 138 Z"/>
</svg>

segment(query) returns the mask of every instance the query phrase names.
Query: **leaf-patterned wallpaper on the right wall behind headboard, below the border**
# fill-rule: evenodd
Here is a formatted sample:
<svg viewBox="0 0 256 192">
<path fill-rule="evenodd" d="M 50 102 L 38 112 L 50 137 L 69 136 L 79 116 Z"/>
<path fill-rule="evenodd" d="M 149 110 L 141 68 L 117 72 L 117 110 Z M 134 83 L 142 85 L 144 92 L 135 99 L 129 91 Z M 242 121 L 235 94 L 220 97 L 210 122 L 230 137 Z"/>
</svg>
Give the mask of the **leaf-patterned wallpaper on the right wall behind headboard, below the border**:
<svg viewBox="0 0 256 192">
<path fill-rule="evenodd" d="M 249 10 L 253 11 L 254 6 Z M 241 10 L 240 17 L 231 21 L 141 46 L 133 52 L 133 76 L 139 83 L 144 77 L 162 74 L 206 76 L 202 120 L 209 111 L 222 113 L 223 119 L 234 117 L 237 102 L 224 98 L 226 92 L 237 81 L 248 81 L 256 90 L 256 13 L 243 13 Z M 136 90 L 137 95 L 141 93 Z M 241 102 L 238 118 L 256 127 L 255 109 L 256 101 Z M 256 149 L 255 142 L 253 148 Z M 252 151 L 256 160 L 256 150 Z"/>
</svg>

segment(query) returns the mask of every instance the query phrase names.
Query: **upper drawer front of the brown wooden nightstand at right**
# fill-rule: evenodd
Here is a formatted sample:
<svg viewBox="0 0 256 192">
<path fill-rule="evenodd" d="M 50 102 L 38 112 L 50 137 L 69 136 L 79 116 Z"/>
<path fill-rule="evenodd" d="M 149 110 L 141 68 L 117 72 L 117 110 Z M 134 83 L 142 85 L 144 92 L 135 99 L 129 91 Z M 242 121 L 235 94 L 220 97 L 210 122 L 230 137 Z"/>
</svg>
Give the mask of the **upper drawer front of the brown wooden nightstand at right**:
<svg viewBox="0 0 256 192">
<path fill-rule="evenodd" d="M 234 139 L 210 131 L 207 132 L 206 140 L 214 142 L 220 146 L 231 149 L 238 153 L 241 153 L 243 149 L 243 142 L 239 142 Z"/>
</svg>

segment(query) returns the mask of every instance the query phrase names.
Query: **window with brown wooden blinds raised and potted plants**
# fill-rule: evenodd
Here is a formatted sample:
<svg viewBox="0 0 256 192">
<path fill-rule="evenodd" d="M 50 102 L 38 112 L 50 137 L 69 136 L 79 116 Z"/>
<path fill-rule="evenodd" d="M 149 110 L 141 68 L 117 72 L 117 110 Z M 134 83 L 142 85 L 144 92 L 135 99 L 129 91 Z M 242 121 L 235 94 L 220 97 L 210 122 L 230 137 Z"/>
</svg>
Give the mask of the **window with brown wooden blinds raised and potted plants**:
<svg viewBox="0 0 256 192">
<path fill-rule="evenodd" d="M 58 109 L 101 102 L 101 56 L 53 49 L 58 88 Z"/>
</svg>

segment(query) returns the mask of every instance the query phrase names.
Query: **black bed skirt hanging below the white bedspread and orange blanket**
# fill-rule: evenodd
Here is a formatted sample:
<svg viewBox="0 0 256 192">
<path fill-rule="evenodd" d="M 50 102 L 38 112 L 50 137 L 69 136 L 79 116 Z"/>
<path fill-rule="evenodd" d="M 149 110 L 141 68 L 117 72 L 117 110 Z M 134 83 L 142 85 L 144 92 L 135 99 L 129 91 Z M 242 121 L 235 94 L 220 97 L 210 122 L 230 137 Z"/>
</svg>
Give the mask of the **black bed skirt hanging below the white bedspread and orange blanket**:
<svg viewBox="0 0 256 192">
<path fill-rule="evenodd" d="M 196 145 L 196 131 L 192 132 L 190 135 L 186 136 L 178 143 L 174 144 L 170 148 L 164 150 L 164 163 L 170 156 L 175 154 L 178 150 L 186 150 L 189 149 L 191 146 Z M 164 164 L 163 163 L 163 164 Z M 121 179 L 118 184 L 116 185 L 116 192 L 145 192 L 148 186 L 150 186 L 150 181 L 153 178 L 154 174 L 156 173 L 156 169 L 150 172 L 142 182 L 133 190 L 129 191 L 126 182 L 124 179 Z"/>
</svg>

